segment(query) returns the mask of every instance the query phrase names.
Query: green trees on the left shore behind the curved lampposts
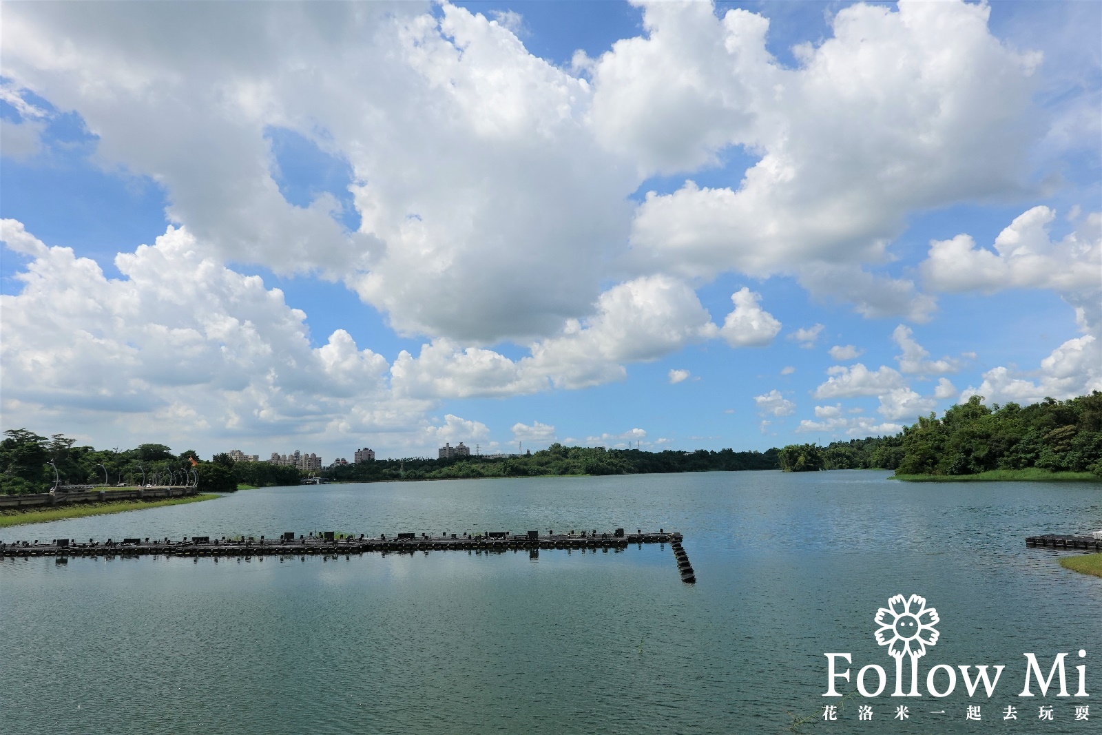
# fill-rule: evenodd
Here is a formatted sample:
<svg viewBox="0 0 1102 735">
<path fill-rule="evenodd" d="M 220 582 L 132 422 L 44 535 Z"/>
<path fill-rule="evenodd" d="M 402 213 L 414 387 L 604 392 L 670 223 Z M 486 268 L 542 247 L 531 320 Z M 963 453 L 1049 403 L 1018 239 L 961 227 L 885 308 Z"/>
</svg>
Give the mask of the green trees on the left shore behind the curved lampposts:
<svg viewBox="0 0 1102 735">
<path fill-rule="evenodd" d="M 75 446 L 63 434 L 40 436 L 26 429 L 4 432 L 0 442 L 0 494 L 45 493 L 61 485 L 184 485 L 198 475 L 204 490 L 228 493 L 237 485 L 298 485 L 299 471 L 260 462 L 235 463 L 228 455 L 203 462 L 194 450 L 173 454 L 164 444 L 133 450 Z M 193 462 L 194 460 L 194 462 Z M 55 472 L 56 468 L 56 472 Z"/>
</svg>

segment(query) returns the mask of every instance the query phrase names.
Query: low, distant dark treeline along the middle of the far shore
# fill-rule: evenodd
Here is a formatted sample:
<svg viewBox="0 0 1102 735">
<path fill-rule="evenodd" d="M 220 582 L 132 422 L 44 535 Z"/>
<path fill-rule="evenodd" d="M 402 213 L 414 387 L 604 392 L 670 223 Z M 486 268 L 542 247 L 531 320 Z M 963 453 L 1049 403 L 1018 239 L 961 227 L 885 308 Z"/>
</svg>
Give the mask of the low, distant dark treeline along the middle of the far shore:
<svg viewBox="0 0 1102 735">
<path fill-rule="evenodd" d="M 329 467 L 334 480 L 435 479 L 454 477 L 530 477 L 540 475 L 635 475 L 671 472 L 776 469 L 777 450 L 766 452 L 642 452 L 604 447 L 563 446 L 510 457 L 452 460 L 375 460 Z"/>
</svg>

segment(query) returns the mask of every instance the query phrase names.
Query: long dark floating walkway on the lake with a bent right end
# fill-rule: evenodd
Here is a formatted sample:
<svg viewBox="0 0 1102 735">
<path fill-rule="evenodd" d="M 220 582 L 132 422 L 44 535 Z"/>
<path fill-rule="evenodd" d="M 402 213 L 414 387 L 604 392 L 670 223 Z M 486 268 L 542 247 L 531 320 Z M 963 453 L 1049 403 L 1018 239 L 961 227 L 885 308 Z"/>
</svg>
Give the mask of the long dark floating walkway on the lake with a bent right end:
<svg viewBox="0 0 1102 735">
<path fill-rule="evenodd" d="M 635 543 L 669 543 L 678 562 L 678 572 L 681 581 L 694 583 L 696 581 L 689 556 L 681 545 L 682 536 L 676 532 L 659 530 L 658 533 L 644 533 L 638 530 L 636 533 L 625 533 L 624 529 L 616 529 L 612 533 L 597 533 L 586 531 L 582 533 L 548 533 L 540 534 L 538 531 L 528 531 L 521 536 L 514 536 L 509 531 L 490 531 L 485 536 L 429 536 L 426 533 L 398 533 L 395 536 L 380 534 L 378 537 L 366 538 L 360 534 L 338 536 L 333 531 L 326 531 L 321 536 L 298 536 L 287 531 L 278 538 L 266 539 L 261 536 L 247 537 L 244 539 L 212 539 L 207 536 L 194 536 L 180 540 L 150 539 L 150 538 L 126 538 L 108 539 L 107 541 L 96 541 L 88 539 L 87 543 L 78 543 L 76 539 L 54 539 L 52 541 L 12 541 L 4 543 L 0 541 L 0 555 L 2 556 L 57 556 L 67 559 L 68 556 L 258 556 L 279 555 L 299 556 L 304 554 L 363 554 L 366 552 L 381 553 L 415 553 L 423 551 L 478 551 L 499 552 L 509 550 L 528 551 L 536 556 L 540 550 L 551 549 L 597 549 L 607 552 L 612 549 L 619 552 L 628 545 Z"/>
</svg>

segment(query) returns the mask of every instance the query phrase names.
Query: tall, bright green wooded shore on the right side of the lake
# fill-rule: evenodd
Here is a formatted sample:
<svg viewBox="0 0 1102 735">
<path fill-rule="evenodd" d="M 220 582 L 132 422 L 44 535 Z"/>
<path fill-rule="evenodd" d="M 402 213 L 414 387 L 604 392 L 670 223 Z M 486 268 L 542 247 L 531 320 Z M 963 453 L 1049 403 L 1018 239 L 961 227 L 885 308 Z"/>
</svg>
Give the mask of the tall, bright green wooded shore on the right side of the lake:
<svg viewBox="0 0 1102 735">
<path fill-rule="evenodd" d="M 1102 392 L 1067 401 L 987 407 L 973 396 L 943 418 L 921 418 L 894 436 L 780 450 L 782 469 L 895 469 L 900 475 L 974 475 L 1037 467 L 1102 476 Z"/>
</svg>

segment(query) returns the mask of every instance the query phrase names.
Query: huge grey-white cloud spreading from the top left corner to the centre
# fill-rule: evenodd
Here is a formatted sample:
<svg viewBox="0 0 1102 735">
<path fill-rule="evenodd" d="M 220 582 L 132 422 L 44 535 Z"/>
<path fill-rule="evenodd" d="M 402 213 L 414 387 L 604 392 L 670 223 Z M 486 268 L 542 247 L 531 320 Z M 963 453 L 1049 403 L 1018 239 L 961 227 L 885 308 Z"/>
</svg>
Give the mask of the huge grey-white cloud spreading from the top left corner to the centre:
<svg viewBox="0 0 1102 735">
<path fill-rule="evenodd" d="M 28 7 L 4 13 L 4 74 L 77 110 L 99 160 L 156 180 L 224 261 L 344 280 L 407 334 L 553 334 L 626 240 L 634 166 L 594 139 L 586 82 L 508 23 L 429 11 Z M 332 195 L 283 198 L 273 129 L 350 166 L 358 231 Z"/>
</svg>

